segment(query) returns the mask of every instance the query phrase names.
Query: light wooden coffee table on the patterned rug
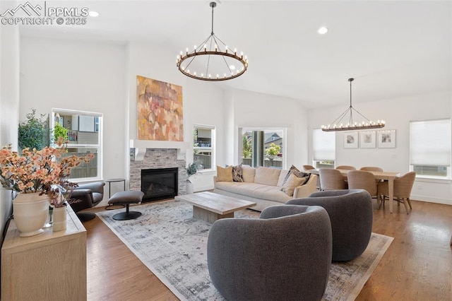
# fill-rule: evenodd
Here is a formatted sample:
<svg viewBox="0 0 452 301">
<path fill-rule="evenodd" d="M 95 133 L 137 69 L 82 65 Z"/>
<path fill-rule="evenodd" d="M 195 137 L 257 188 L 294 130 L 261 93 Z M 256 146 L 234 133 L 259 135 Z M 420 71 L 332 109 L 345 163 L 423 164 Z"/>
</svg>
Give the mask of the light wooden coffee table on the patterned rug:
<svg viewBox="0 0 452 301">
<path fill-rule="evenodd" d="M 176 196 L 178 201 L 186 201 L 193 205 L 193 217 L 215 223 L 220 218 L 233 218 L 234 212 L 256 206 L 256 203 L 235 199 L 231 196 L 203 191 L 196 194 Z"/>
</svg>

